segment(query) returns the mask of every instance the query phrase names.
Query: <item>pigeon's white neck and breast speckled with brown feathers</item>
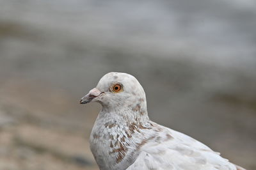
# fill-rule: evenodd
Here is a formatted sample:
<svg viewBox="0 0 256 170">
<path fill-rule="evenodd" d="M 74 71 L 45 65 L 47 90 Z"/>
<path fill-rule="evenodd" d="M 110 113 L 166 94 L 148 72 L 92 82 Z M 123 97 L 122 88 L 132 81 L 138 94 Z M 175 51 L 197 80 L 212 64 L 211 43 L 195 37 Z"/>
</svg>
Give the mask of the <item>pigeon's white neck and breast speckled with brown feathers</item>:
<svg viewBox="0 0 256 170">
<path fill-rule="evenodd" d="M 109 108 L 103 107 L 90 136 L 91 150 L 100 169 L 120 169 L 121 165 L 132 164 L 137 156 L 135 144 L 143 141 L 141 133 L 151 126 L 147 114 L 124 107 L 109 112 Z"/>
</svg>

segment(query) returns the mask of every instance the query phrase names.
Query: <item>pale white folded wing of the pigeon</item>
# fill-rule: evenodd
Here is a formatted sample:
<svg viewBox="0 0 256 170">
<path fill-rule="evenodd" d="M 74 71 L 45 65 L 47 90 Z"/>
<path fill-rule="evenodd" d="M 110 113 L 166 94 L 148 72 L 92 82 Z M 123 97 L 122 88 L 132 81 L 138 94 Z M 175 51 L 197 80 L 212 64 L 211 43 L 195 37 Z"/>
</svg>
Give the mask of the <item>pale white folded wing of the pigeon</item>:
<svg viewBox="0 0 256 170">
<path fill-rule="evenodd" d="M 138 158 L 128 169 L 227 169 L 237 170 L 234 164 L 209 147 L 168 128 L 173 136 L 168 141 L 149 141 L 141 148 Z"/>
</svg>

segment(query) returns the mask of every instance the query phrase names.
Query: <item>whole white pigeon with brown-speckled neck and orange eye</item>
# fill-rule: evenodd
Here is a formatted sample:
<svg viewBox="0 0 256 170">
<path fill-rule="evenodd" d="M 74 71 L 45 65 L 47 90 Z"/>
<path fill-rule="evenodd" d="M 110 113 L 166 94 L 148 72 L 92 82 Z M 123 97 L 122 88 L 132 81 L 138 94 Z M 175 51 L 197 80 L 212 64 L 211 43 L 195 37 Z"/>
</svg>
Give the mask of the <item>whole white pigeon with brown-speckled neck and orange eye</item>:
<svg viewBox="0 0 256 170">
<path fill-rule="evenodd" d="M 90 135 L 100 169 L 243 169 L 188 135 L 150 121 L 145 91 L 128 73 L 110 72 L 81 104 L 102 110 Z"/>
</svg>

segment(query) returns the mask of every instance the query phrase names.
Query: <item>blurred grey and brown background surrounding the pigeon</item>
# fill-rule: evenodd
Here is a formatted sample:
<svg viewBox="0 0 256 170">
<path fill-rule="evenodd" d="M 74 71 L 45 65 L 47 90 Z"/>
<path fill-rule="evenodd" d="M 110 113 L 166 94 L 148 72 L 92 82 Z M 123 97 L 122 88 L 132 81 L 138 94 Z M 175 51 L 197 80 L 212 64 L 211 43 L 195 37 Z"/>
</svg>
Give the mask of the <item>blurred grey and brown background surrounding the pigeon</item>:
<svg viewBox="0 0 256 170">
<path fill-rule="evenodd" d="M 113 71 L 151 120 L 256 169 L 254 0 L 0 0 L 0 169 L 98 169 L 79 100 Z"/>
</svg>

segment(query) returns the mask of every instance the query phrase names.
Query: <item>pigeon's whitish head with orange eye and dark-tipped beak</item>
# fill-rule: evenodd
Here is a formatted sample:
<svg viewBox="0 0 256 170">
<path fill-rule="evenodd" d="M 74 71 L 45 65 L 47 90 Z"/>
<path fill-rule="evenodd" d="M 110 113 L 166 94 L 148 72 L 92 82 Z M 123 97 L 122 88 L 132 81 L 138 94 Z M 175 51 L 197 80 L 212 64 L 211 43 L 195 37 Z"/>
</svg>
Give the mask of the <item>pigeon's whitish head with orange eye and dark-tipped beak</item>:
<svg viewBox="0 0 256 170">
<path fill-rule="evenodd" d="M 103 109 L 117 107 L 147 114 L 145 91 L 140 82 L 128 73 L 110 72 L 80 100 L 80 104 L 99 102 Z"/>
</svg>

